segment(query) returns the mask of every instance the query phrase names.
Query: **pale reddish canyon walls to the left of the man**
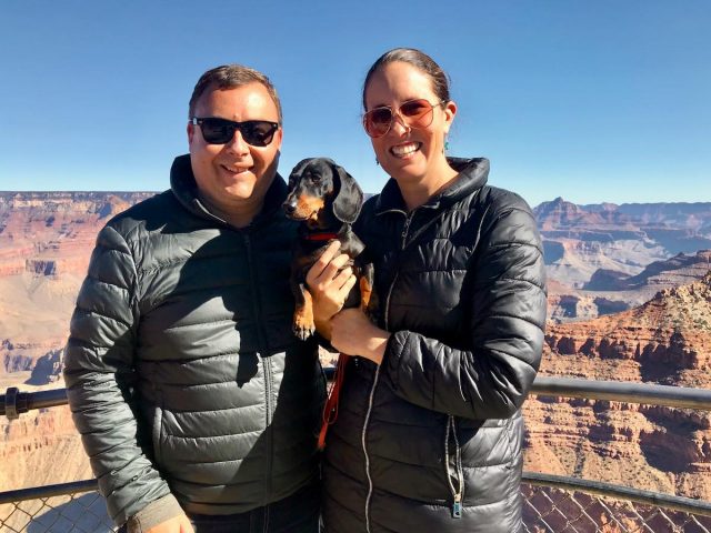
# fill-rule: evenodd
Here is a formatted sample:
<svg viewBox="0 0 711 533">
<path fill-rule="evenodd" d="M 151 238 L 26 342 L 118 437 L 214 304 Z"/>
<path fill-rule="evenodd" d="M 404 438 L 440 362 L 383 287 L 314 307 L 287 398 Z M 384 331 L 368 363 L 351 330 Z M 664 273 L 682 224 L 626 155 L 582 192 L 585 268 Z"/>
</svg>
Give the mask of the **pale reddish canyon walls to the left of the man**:
<svg viewBox="0 0 711 533">
<path fill-rule="evenodd" d="M 0 192 L 0 390 L 63 386 L 69 318 L 98 231 L 152 193 Z M 68 408 L 0 419 L 0 491 L 91 477 Z"/>
</svg>

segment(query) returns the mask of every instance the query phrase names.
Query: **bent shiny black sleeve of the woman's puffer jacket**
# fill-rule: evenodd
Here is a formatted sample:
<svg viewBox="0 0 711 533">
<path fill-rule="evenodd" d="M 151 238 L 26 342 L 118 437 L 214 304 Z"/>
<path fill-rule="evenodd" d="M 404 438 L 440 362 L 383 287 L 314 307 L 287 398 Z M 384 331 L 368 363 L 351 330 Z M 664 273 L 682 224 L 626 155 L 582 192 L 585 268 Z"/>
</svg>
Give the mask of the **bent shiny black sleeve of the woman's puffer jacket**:
<svg viewBox="0 0 711 533">
<path fill-rule="evenodd" d="M 383 370 L 395 393 L 411 403 L 468 419 L 503 419 L 525 400 L 543 345 L 545 269 L 525 202 L 490 212 L 478 249 L 469 266 L 471 350 L 398 331 L 388 342 Z"/>
</svg>

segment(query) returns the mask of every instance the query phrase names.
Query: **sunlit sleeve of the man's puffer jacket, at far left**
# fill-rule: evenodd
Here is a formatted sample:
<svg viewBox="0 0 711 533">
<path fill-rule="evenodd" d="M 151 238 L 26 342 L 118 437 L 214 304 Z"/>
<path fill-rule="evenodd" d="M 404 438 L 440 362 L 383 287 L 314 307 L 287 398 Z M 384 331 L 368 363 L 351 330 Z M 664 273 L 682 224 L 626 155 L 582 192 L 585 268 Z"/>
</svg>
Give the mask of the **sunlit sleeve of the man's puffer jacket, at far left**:
<svg viewBox="0 0 711 533">
<path fill-rule="evenodd" d="M 106 227 L 71 319 L 64 382 L 74 424 L 116 524 L 170 494 L 139 445 L 131 405 L 136 284 L 131 250 L 119 232 Z"/>
</svg>

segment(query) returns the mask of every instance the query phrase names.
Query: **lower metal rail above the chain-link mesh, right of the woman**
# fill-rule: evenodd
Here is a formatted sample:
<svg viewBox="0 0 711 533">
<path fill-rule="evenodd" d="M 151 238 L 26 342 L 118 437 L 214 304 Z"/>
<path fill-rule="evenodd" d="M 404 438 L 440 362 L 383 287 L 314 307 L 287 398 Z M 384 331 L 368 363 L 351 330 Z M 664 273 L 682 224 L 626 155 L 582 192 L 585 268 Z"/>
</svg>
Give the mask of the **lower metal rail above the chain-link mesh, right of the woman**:
<svg viewBox="0 0 711 533">
<path fill-rule="evenodd" d="M 691 497 L 674 496 L 660 492 L 643 491 L 630 486 L 613 485 L 601 481 L 581 480 L 578 477 L 567 477 L 563 475 L 541 474 L 538 472 L 523 472 L 523 482 L 538 486 L 552 486 L 565 491 L 583 492 L 595 494 L 614 500 L 625 500 L 629 502 L 663 507 L 682 513 L 711 516 L 711 502 L 694 500 Z"/>
</svg>

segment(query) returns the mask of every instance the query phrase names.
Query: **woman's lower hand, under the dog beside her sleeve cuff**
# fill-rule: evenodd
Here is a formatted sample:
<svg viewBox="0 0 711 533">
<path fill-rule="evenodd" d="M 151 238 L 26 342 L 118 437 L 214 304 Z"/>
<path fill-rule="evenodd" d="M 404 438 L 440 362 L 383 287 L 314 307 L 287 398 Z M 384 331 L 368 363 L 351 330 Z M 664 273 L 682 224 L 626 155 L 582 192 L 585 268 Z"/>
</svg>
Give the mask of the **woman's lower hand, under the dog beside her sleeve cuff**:
<svg viewBox="0 0 711 533">
<path fill-rule="evenodd" d="M 341 353 L 380 364 L 390 333 L 373 324 L 360 308 L 344 309 L 331 319 L 331 345 Z"/>
</svg>

